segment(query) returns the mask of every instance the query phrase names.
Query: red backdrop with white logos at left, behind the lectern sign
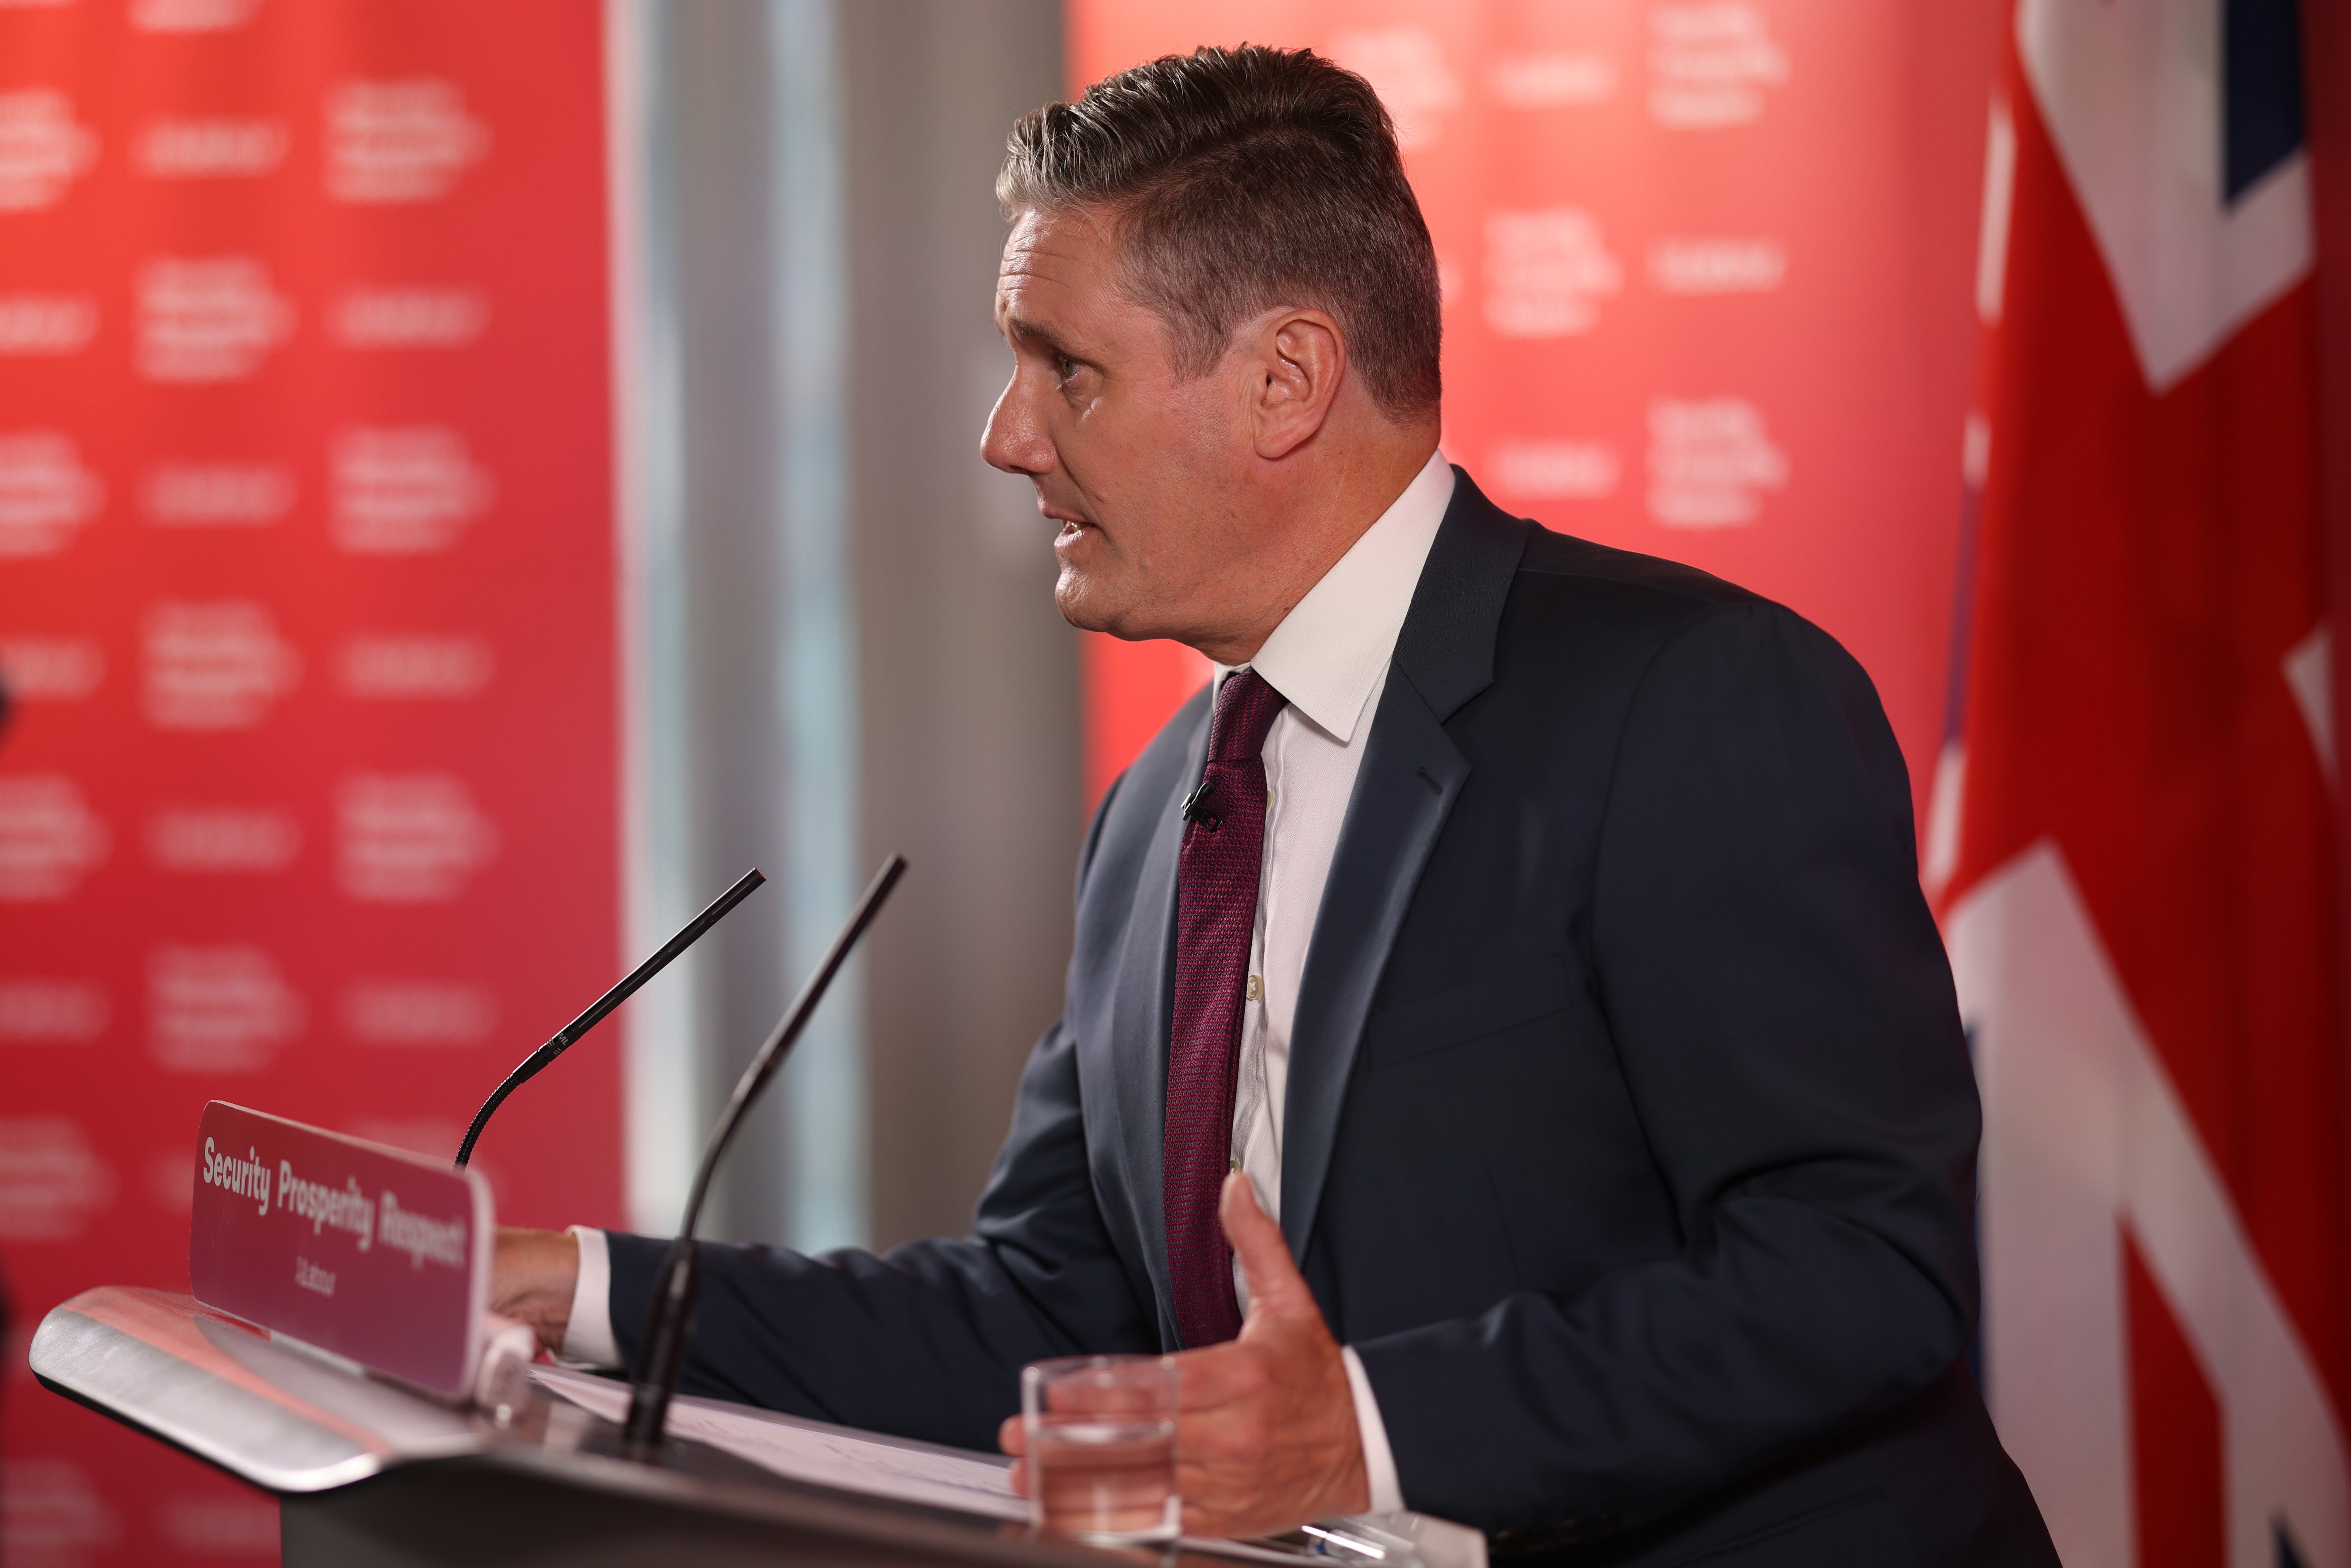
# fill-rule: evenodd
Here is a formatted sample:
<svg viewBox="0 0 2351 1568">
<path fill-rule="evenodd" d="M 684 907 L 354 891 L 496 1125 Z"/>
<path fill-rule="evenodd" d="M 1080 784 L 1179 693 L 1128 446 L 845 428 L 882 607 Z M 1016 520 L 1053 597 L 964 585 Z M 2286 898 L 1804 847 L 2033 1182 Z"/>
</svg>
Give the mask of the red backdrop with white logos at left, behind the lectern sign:
<svg viewBox="0 0 2351 1568">
<path fill-rule="evenodd" d="M 186 1286 L 197 1110 L 449 1154 L 618 964 L 600 12 L 0 7 L 0 1401 L 16 1563 L 275 1556 L 38 1389 Z M 618 1037 L 484 1140 L 621 1218 Z"/>
</svg>

